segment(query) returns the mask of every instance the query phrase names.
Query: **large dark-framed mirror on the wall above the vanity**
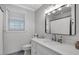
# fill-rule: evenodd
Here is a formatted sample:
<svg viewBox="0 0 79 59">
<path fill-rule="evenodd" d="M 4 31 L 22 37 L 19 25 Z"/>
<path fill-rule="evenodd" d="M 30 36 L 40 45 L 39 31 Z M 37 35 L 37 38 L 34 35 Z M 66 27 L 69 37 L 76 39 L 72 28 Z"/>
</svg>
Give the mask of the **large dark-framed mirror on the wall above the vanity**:
<svg viewBox="0 0 79 59">
<path fill-rule="evenodd" d="M 46 13 L 45 33 L 76 35 L 76 5 L 64 4 Z"/>
</svg>

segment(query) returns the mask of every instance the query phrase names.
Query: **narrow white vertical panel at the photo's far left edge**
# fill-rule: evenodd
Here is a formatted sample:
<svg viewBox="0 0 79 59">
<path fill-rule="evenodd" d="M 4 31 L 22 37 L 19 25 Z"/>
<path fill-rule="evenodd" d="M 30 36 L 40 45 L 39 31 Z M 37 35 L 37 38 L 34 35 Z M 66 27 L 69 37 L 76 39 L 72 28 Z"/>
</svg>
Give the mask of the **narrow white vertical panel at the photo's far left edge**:
<svg viewBox="0 0 79 59">
<path fill-rule="evenodd" d="M 0 10 L 0 55 L 3 54 L 3 12 Z"/>
</svg>

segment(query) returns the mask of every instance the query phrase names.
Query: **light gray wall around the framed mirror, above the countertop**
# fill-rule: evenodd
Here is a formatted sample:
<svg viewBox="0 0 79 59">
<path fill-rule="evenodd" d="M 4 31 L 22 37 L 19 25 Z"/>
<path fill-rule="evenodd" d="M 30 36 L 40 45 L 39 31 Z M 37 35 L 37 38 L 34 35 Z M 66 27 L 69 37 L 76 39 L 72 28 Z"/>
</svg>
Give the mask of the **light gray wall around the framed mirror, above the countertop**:
<svg viewBox="0 0 79 59">
<path fill-rule="evenodd" d="M 54 37 L 51 34 L 45 33 L 45 9 L 49 5 L 43 5 L 35 12 L 35 33 L 39 35 L 39 37 L 46 37 L 52 38 Z M 57 38 L 60 36 L 57 35 Z M 63 42 L 67 44 L 74 45 L 75 42 L 79 40 L 79 5 L 76 5 L 76 35 L 75 36 L 64 36 L 63 35 Z"/>
</svg>

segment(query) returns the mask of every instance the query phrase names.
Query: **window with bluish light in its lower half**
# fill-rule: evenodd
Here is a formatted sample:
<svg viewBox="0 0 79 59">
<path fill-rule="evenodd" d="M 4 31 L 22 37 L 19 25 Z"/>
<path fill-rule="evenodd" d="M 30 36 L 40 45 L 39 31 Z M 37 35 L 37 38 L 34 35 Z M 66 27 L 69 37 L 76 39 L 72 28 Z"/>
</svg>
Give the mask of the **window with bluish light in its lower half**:
<svg viewBox="0 0 79 59">
<path fill-rule="evenodd" d="M 9 12 L 8 28 L 9 31 L 24 31 L 24 15 L 20 13 Z"/>
</svg>

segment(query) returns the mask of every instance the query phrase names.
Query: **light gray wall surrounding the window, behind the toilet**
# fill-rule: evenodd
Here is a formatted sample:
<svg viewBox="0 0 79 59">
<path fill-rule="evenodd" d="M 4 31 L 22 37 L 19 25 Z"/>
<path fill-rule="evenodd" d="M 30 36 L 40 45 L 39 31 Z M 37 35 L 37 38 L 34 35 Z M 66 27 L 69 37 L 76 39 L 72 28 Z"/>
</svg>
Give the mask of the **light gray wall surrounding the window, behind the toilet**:
<svg viewBox="0 0 79 59">
<path fill-rule="evenodd" d="M 4 54 L 10 54 L 22 49 L 28 44 L 34 35 L 34 12 L 20 7 L 6 5 L 8 10 L 25 14 L 25 31 L 8 31 L 7 21 L 4 19 Z M 7 16 L 6 16 L 7 17 Z M 5 18 L 5 17 L 4 17 Z"/>
</svg>

